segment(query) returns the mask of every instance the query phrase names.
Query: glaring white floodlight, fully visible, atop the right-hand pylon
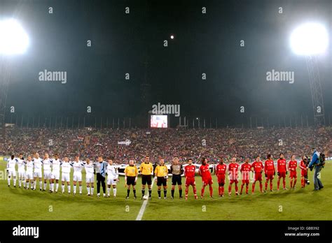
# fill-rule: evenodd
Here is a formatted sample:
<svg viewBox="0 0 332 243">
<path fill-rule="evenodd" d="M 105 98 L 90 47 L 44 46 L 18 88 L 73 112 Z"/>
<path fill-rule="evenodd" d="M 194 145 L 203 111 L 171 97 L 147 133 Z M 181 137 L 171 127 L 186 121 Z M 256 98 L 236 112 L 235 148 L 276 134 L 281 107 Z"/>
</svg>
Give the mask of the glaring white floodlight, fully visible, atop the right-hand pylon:
<svg viewBox="0 0 332 243">
<path fill-rule="evenodd" d="M 328 47 L 328 33 L 325 27 L 318 23 L 305 23 L 291 34 L 291 49 L 295 54 L 321 54 Z"/>
</svg>

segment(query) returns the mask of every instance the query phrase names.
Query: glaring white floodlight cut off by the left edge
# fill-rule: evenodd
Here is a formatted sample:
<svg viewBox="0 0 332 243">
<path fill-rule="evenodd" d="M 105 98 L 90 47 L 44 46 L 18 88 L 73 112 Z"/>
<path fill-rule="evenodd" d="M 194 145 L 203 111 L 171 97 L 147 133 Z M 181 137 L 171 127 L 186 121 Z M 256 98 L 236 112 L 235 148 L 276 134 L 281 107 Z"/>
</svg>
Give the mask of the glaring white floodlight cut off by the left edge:
<svg viewBox="0 0 332 243">
<path fill-rule="evenodd" d="M 28 45 L 29 37 L 17 20 L 0 21 L 0 54 L 22 54 Z"/>
</svg>

